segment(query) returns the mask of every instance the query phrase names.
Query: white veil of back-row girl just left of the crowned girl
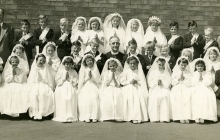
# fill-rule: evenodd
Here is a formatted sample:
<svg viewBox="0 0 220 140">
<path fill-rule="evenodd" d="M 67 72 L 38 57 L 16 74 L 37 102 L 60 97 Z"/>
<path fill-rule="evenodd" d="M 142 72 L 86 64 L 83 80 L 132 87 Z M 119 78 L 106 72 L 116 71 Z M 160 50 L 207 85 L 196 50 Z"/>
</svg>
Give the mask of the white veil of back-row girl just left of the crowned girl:
<svg viewBox="0 0 220 140">
<path fill-rule="evenodd" d="M 139 24 L 139 28 L 136 32 L 132 32 L 132 22 L 136 21 Z M 134 38 L 137 41 L 138 48 L 142 47 L 143 38 L 144 38 L 144 27 L 139 19 L 133 18 L 128 21 L 127 28 L 126 28 L 126 45 L 128 42 Z"/>
</svg>

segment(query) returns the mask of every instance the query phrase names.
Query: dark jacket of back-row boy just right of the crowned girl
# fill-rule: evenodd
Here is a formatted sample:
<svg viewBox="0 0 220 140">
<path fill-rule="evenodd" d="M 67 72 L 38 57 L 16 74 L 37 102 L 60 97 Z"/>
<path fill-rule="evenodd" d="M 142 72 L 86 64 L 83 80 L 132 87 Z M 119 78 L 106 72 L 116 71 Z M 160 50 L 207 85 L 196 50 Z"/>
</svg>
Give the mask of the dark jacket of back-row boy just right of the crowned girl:
<svg viewBox="0 0 220 140">
<path fill-rule="evenodd" d="M 171 39 L 171 35 L 167 35 L 167 41 Z M 175 39 L 174 41 L 174 47 L 170 47 L 170 55 L 174 56 L 176 59 L 180 56 L 181 51 L 183 50 L 183 38 L 180 36 Z"/>
</svg>

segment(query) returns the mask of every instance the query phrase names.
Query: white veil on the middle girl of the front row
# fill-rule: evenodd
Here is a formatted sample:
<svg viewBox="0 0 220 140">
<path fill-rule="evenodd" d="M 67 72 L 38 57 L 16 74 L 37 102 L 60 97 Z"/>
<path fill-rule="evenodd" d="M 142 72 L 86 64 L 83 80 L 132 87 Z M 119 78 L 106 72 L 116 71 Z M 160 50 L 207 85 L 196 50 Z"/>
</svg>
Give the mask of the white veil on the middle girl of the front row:
<svg viewBox="0 0 220 140">
<path fill-rule="evenodd" d="M 102 87 L 105 86 L 104 76 L 105 76 L 105 74 L 107 73 L 107 71 L 109 71 L 109 70 L 108 70 L 108 63 L 109 63 L 109 61 L 111 61 L 111 60 L 114 60 L 114 61 L 118 64 L 118 67 L 117 67 L 117 69 L 116 69 L 116 71 L 115 71 L 116 74 L 120 75 L 120 74 L 122 73 L 122 71 L 123 71 L 123 67 L 122 67 L 122 65 L 121 65 L 121 62 L 120 62 L 118 59 L 109 58 L 109 59 L 105 62 L 105 65 L 104 65 L 104 67 L 103 67 L 102 74 L 101 74 L 101 77 L 100 77 L 100 82 L 102 82 L 102 83 L 101 83 Z"/>
</svg>

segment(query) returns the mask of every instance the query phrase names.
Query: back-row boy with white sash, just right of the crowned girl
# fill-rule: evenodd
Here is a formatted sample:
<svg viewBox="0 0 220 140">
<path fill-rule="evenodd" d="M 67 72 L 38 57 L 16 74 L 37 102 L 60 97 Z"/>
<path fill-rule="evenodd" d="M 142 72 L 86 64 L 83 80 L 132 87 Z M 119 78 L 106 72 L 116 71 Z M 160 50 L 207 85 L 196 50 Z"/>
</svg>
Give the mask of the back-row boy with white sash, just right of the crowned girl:
<svg viewBox="0 0 220 140">
<path fill-rule="evenodd" d="M 170 47 L 170 55 L 178 59 L 183 49 L 183 38 L 178 34 L 179 24 L 175 21 L 170 23 L 170 35 L 167 35 L 167 43 Z"/>
</svg>

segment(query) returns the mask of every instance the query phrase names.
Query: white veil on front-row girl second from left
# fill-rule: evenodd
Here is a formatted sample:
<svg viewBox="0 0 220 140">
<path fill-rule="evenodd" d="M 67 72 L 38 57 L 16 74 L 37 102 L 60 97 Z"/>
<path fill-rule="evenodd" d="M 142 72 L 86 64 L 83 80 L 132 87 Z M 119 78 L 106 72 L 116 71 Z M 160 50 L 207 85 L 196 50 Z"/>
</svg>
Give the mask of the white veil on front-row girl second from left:
<svg viewBox="0 0 220 140">
<path fill-rule="evenodd" d="M 37 66 L 36 58 L 41 54 L 42 53 L 37 54 L 35 56 L 34 62 L 31 65 L 31 71 L 30 71 L 30 74 L 29 74 L 29 77 L 28 77 L 28 83 L 36 83 L 38 72 L 41 70 L 40 74 L 41 74 L 41 77 L 43 78 L 43 82 L 45 84 L 47 84 L 48 86 L 50 86 L 52 88 L 52 90 L 54 90 L 55 81 L 54 81 L 54 78 L 53 78 L 53 75 L 52 75 L 52 72 L 51 72 L 52 69 L 50 68 L 50 66 L 46 62 L 45 62 L 44 66 L 42 68 L 39 68 Z"/>
</svg>

